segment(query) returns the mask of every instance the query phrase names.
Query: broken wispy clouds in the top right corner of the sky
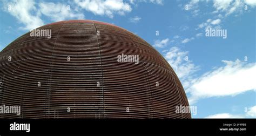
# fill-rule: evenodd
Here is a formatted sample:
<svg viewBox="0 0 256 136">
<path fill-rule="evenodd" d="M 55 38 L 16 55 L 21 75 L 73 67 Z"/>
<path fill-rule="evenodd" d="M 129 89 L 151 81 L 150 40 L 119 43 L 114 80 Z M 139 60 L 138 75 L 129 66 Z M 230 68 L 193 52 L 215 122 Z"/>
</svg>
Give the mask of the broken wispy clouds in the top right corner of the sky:
<svg viewBox="0 0 256 136">
<path fill-rule="evenodd" d="M 211 11 L 205 12 L 200 14 L 199 9 L 199 3 L 204 3 L 204 5 L 212 5 L 214 8 Z M 198 28 L 196 30 L 204 28 L 213 28 L 213 29 L 221 29 L 221 20 L 225 20 L 225 17 L 234 15 L 239 16 L 244 12 L 247 12 L 244 8 L 244 6 L 247 5 L 250 8 L 256 7 L 256 1 L 254 0 L 214 0 L 214 1 L 200 1 L 200 0 L 191 0 L 186 4 L 180 4 L 180 7 L 182 10 L 185 11 L 185 7 L 187 7 L 188 10 L 186 12 L 191 12 L 192 17 L 196 17 L 199 14 L 200 15 L 210 15 L 213 16 L 213 18 L 216 18 L 214 21 L 211 22 L 203 22 L 198 25 Z M 248 11 L 250 12 L 250 8 L 248 8 Z"/>
</svg>

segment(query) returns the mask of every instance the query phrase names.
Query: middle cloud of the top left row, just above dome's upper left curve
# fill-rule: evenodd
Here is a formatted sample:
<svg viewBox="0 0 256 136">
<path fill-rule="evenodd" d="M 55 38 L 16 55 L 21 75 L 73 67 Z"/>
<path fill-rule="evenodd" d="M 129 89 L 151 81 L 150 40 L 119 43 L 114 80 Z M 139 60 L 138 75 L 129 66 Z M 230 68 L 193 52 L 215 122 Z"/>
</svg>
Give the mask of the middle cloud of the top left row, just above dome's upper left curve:
<svg viewBox="0 0 256 136">
<path fill-rule="evenodd" d="M 52 21 L 63 21 L 69 18 L 84 19 L 83 13 L 74 13 L 68 9 L 68 5 L 62 3 L 39 3 L 41 12 L 52 19 Z"/>
</svg>

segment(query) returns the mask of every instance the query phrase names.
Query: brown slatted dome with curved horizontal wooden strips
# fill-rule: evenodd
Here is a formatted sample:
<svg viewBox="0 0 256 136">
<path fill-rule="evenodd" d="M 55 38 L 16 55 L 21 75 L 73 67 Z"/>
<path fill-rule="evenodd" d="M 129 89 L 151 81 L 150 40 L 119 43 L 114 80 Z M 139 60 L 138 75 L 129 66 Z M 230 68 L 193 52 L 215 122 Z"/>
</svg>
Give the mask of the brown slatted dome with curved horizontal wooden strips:
<svg viewBox="0 0 256 136">
<path fill-rule="evenodd" d="M 0 54 L 0 118 L 191 118 L 176 73 L 149 43 L 109 23 L 61 21 Z"/>
</svg>

